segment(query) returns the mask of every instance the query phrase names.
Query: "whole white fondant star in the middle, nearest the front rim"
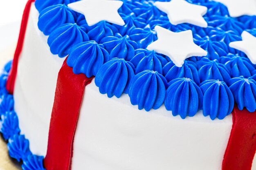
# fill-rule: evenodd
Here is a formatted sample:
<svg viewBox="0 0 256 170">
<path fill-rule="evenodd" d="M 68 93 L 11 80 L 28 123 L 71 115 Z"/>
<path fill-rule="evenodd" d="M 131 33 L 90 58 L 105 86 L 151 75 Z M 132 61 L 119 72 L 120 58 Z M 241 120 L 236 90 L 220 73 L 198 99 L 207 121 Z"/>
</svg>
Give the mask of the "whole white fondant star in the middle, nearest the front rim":
<svg viewBox="0 0 256 170">
<path fill-rule="evenodd" d="M 184 60 L 192 56 L 206 56 L 207 51 L 193 42 L 191 30 L 175 33 L 161 26 L 155 26 L 157 38 L 147 49 L 171 58 L 177 67 L 182 67 Z"/>
</svg>

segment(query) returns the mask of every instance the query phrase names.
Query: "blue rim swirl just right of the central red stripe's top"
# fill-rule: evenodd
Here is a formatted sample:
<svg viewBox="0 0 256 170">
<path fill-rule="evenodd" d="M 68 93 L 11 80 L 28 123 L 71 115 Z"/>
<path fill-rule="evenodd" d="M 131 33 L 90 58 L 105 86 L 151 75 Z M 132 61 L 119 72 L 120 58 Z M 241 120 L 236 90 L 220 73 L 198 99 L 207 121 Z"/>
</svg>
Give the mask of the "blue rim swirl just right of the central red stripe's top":
<svg viewBox="0 0 256 170">
<path fill-rule="evenodd" d="M 103 64 L 95 77 L 95 84 L 101 94 L 119 98 L 128 93 L 134 77 L 134 66 L 124 59 L 113 58 Z"/>
</svg>

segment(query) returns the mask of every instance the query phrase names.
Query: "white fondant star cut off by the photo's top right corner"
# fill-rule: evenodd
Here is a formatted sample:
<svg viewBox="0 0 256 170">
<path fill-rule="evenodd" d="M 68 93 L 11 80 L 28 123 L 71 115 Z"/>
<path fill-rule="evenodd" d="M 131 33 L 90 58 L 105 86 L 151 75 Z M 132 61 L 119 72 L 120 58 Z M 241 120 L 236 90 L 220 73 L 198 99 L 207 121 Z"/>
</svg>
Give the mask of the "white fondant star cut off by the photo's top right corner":
<svg viewBox="0 0 256 170">
<path fill-rule="evenodd" d="M 231 17 L 256 15 L 256 0 L 215 0 L 227 6 Z"/>
</svg>

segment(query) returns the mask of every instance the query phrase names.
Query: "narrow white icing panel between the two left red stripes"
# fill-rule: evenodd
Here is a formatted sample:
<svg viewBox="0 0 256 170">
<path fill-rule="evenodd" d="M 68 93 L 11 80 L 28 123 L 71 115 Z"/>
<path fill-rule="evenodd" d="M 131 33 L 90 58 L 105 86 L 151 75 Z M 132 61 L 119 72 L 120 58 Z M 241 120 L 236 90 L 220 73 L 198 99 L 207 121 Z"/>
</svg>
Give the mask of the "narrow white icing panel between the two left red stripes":
<svg viewBox="0 0 256 170">
<path fill-rule="evenodd" d="M 34 154 L 45 155 L 58 71 L 65 59 L 49 51 L 47 37 L 37 27 L 38 15 L 33 4 L 13 97 L 21 133 Z"/>
</svg>

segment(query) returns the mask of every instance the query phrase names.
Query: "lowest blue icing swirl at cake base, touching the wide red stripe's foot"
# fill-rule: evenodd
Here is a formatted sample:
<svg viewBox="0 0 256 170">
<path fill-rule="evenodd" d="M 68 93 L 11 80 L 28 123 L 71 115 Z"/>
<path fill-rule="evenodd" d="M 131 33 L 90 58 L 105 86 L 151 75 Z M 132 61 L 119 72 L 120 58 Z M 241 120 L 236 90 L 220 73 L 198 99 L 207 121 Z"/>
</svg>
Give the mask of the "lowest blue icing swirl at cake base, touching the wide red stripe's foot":
<svg viewBox="0 0 256 170">
<path fill-rule="evenodd" d="M 44 157 L 42 156 L 29 155 L 27 160 L 23 161 L 22 170 L 45 170 L 43 159 Z"/>
</svg>

